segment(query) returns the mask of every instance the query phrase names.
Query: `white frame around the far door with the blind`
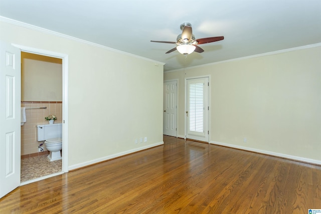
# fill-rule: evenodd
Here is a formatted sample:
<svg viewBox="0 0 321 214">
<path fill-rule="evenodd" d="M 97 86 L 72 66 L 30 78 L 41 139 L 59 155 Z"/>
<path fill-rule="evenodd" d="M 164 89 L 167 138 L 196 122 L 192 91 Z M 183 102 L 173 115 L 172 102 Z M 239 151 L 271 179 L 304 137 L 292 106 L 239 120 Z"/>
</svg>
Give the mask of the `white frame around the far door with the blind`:
<svg viewBox="0 0 321 214">
<path fill-rule="evenodd" d="M 193 79 L 199 79 L 199 78 L 208 78 L 208 80 L 209 80 L 209 83 L 211 82 L 211 76 L 210 75 L 208 75 L 208 76 L 197 76 L 197 77 L 186 77 L 185 78 L 185 107 L 184 107 L 184 119 L 185 119 L 185 122 L 184 122 L 184 125 L 185 125 L 185 133 L 184 133 L 184 139 L 186 139 L 187 137 L 187 115 L 186 115 L 186 111 L 187 111 L 187 109 L 186 109 L 186 106 L 187 106 L 187 93 L 186 93 L 186 90 L 187 90 L 187 81 L 188 80 L 193 80 Z M 211 103 L 211 90 L 210 90 L 210 84 L 209 84 L 209 86 L 208 86 L 209 88 L 208 88 L 208 95 L 207 95 L 207 99 L 208 99 L 208 107 L 210 106 L 210 103 Z M 208 142 L 208 143 L 210 143 L 210 132 L 209 132 L 209 130 L 210 130 L 210 113 L 211 113 L 211 111 L 210 111 L 210 107 L 209 107 L 209 109 L 208 109 L 208 114 L 207 114 L 207 116 L 206 116 L 206 127 L 208 127 L 208 141 L 206 141 L 206 142 Z"/>
</svg>

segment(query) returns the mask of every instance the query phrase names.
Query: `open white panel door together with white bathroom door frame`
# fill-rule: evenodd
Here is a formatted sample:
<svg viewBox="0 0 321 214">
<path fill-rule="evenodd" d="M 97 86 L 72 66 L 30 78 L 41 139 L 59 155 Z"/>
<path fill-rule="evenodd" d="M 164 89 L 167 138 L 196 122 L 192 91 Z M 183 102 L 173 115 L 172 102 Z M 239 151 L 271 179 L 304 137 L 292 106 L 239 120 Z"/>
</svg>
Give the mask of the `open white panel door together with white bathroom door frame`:
<svg viewBox="0 0 321 214">
<path fill-rule="evenodd" d="M 0 198 L 27 183 L 68 172 L 68 55 L 0 41 Z M 21 52 L 62 59 L 62 171 L 22 183 L 21 173 Z"/>
</svg>

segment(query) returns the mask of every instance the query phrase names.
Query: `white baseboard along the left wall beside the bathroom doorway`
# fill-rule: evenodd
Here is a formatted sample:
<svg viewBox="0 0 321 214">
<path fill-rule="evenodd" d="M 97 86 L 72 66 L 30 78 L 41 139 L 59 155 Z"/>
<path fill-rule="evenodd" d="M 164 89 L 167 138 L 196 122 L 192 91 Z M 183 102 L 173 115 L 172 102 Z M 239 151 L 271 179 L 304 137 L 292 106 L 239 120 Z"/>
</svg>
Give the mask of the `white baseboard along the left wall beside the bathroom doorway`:
<svg viewBox="0 0 321 214">
<path fill-rule="evenodd" d="M 123 152 L 120 152 L 120 153 L 117 153 L 117 154 L 108 155 L 108 156 L 97 158 L 97 159 L 94 159 L 94 160 L 90 160 L 90 161 L 74 164 L 74 165 L 69 166 L 68 170 L 81 168 L 81 167 L 88 166 L 88 165 L 91 165 L 91 164 L 94 164 L 94 163 L 99 163 L 99 162 L 102 162 L 102 161 L 105 161 L 105 160 L 110 160 L 110 159 L 113 159 L 113 158 L 116 158 L 116 157 L 120 157 L 120 156 L 123 156 L 123 155 L 126 155 L 126 154 L 134 153 L 134 152 L 137 152 L 137 151 L 141 151 L 141 150 L 152 148 L 152 147 L 159 146 L 159 145 L 164 145 L 164 141 L 159 142 L 159 143 L 154 143 L 154 144 L 151 144 L 151 145 L 141 146 L 139 148 L 134 148 L 134 149 L 131 149 L 131 150 L 123 151 Z"/>
</svg>

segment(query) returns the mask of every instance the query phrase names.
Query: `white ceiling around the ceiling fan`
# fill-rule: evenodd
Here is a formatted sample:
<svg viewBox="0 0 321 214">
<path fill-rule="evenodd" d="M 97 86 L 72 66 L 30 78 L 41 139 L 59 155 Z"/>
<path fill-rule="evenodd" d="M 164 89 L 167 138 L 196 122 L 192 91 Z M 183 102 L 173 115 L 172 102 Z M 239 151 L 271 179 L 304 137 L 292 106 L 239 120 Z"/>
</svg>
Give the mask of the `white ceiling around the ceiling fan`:
<svg viewBox="0 0 321 214">
<path fill-rule="evenodd" d="M 0 0 L 0 16 L 166 63 L 164 70 L 321 43 L 320 0 Z M 203 53 L 165 54 L 192 24 Z"/>
</svg>

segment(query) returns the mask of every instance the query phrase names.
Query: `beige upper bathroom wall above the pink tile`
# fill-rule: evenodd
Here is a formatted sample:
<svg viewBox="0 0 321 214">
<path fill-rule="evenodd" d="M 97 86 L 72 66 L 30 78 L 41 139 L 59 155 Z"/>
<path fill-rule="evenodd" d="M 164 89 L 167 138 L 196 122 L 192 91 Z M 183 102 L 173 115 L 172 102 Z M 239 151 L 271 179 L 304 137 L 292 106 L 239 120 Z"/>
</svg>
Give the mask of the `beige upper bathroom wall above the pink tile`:
<svg viewBox="0 0 321 214">
<path fill-rule="evenodd" d="M 62 101 L 62 60 L 21 53 L 21 100 Z"/>
</svg>

